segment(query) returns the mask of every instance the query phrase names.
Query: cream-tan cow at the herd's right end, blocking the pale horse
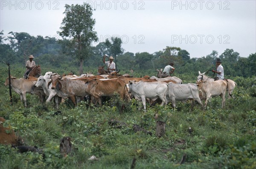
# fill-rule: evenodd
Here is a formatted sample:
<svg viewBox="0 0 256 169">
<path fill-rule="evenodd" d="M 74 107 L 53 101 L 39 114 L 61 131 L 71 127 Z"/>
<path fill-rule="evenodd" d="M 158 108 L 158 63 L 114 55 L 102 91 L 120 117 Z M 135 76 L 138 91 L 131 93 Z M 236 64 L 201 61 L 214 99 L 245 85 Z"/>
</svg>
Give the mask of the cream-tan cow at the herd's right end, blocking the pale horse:
<svg viewBox="0 0 256 169">
<path fill-rule="evenodd" d="M 199 91 L 202 92 L 202 98 L 206 97 L 204 108 L 207 106 L 207 102 L 210 101 L 212 96 L 221 96 L 221 108 L 225 106 L 225 94 L 227 90 L 227 81 L 216 80 L 216 81 L 203 81 L 198 82 Z"/>
</svg>

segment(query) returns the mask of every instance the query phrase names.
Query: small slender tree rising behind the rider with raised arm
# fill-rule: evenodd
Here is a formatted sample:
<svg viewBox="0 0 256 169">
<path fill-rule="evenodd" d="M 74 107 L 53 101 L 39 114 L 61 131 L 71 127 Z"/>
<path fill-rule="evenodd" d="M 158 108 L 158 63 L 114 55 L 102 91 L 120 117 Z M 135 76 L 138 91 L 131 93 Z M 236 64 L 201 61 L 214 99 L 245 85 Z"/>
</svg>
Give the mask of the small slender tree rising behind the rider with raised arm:
<svg viewBox="0 0 256 169">
<path fill-rule="evenodd" d="M 123 49 L 121 48 L 122 40 L 119 37 L 111 37 L 111 42 L 109 39 L 107 39 L 105 44 L 108 47 L 108 49 L 110 50 L 111 54 L 115 57 L 115 60 L 116 60 L 116 56 L 118 54 L 123 53 Z M 115 61 L 115 63 L 116 62 L 117 62 L 117 60 Z M 117 64 L 116 64 L 116 69 L 117 69 Z"/>
</svg>

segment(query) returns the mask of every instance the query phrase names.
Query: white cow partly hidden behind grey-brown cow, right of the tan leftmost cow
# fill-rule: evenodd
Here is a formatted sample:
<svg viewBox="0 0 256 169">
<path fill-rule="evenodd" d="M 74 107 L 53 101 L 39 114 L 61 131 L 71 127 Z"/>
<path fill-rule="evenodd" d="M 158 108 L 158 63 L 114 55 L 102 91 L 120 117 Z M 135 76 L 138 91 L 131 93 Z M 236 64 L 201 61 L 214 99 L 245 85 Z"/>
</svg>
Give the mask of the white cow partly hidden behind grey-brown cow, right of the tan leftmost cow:
<svg viewBox="0 0 256 169">
<path fill-rule="evenodd" d="M 52 87 L 52 84 L 50 84 L 49 88 L 48 88 L 48 83 L 51 81 L 51 79 L 47 79 L 45 78 L 44 76 L 40 76 L 38 77 L 38 81 L 36 82 L 35 86 L 36 87 L 42 87 L 43 90 L 44 90 L 44 93 L 49 96 L 46 100 L 46 103 L 49 103 L 51 100 L 52 100 L 52 97 L 55 98 L 55 102 L 56 102 L 56 107 L 58 109 L 58 106 L 59 106 L 59 102 L 58 102 L 58 95 L 57 93 L 55 92 L 54 89 L 51 89 Z"/>
</svg>

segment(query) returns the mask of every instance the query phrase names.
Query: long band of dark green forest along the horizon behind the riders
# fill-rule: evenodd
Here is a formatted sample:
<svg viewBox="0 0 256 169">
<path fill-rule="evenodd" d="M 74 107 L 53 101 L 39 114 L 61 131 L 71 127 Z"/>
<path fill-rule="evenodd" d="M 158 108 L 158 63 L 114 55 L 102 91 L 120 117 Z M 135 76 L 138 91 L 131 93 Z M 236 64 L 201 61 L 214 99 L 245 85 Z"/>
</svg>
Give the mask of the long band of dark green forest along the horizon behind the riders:
<svg viewBox="0 0 256 169">
<path fill-rule="evenodd" d="M 72 40 L 58 40 L 56 37 L 31 36 L 26 32 L 0 32 L 0 60 L 24 66 L 29 54 L 33 54 L 35 62 L 41 67 L 79 70 L 79 58 L 72 48 Z M 84 60 L 84 71 L 97 69 L 102 66 L 104 54 L 115 57 L 117 69 L 123 72 L 147 71 L 164 68 L 169 62 L 175 63 L 177 73 L 198 74 L 198 70 L 205 72 L 215 68 L 216 58 L 221 58 L 225 76 L 251 77 L 256 74 L 256 53 L 248 57 L 240 57 L 233 49 L 226 49 L 222 54 L 213 50 L 212 53 L 201 58 L 190 58 L 189 52 L 179 47 L 166 46 L 165 49 L 150 54 L 148 52 L 124 52 L 119 38 L 111 38 L 97 46 L 87 49 L 88 56 Z M 85 73 L 85 72 L 84 72 Z"/>
</svg>

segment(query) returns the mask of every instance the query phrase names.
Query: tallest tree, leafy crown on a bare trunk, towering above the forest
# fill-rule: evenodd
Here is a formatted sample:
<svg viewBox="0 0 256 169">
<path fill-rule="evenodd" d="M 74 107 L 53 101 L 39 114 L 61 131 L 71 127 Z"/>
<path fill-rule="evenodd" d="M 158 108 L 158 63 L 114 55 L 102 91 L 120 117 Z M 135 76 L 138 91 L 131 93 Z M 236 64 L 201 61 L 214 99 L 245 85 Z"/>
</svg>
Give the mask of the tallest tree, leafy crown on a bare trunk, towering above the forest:
<svg viewBox="0 0 256 169">
<path fill-rule="evenodd" d="M 97 32 L 93 31 L 95 19 L 92 18 L 93 10 L 87 3 L 83 5 L 65 5 L 66 15 L 61 23 L 61 37 L 72 37 L 72 44 L 76 58 L 79 60 L 79 73 L 83 73 L 83 63 L 89 57 L 90 45 L 98 41 Z"/>
</svg>

